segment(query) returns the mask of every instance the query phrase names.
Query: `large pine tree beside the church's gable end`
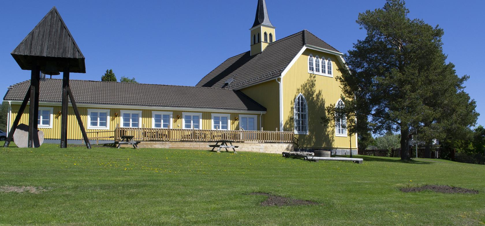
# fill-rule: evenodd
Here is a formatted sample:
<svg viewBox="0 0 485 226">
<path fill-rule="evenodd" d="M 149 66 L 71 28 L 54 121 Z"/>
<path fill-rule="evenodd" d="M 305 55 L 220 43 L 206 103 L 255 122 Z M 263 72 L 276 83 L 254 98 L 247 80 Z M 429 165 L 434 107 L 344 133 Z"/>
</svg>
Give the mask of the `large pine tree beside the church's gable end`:
<svg viewBox="0 0 485 226">
<path fill-rule="evenodd" d="M 383 8 L 359 14 L 356 22 L 367 36 L 344 56 L 349 70 L 337 78 L 345 107 L 327 107 L 331 120 L 356 119 L 348 125 L 351 133 L 400 131 L 401 159 L 406 160 L 414 131 L 428 128 L 435 133 L 430 137 L 441 136 L 460 115 L 471 116 L 458 123 L 460 128 L 474 124 L 477 115 L 474 101 L 463 91 L 468 77 L 459 78 L 453 65 L 445 64 L 443 30 L 410 19 L 408 13 L 403 0 L 387 0 Z M 460 109 L 446 104 L 458 100 Z"/>
</svg>

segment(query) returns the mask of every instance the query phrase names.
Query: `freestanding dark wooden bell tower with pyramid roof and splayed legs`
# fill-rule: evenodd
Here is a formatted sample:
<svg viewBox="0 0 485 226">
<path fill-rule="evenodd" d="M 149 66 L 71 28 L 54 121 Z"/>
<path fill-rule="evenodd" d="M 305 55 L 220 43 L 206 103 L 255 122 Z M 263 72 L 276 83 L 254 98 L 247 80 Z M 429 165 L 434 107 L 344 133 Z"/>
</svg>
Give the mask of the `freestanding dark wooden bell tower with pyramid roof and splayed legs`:
<svg viewBox="0 0 485 226">
<path fill-rule="evenodd" d="M 18 110 L 12 128 L 5 141 L 4 147 L 8 147 L 12 141 L 14 132 L 20 118 L 29 103 L 29 147 L 38 145 L 37 118 L 39 111 L 39 94 L 48 94 L 50 90 L 40 90 L 40 72 L 44 74 L 60 74 L 63 72 L 62 110 L 61 110 L 61 148 L 67 147 L 67 111 L 68 102 L 71 101 L 74 113 L 81 128 L 83 139 L 87 148 L 91 144 L 84 130 L 76 101 L 69 87 L 69 73 L 86 73 L 84 55 L 82 55 L 76 41 L 67 29 L 56 7 L 47 13 L 40 22 L 32 29 L 22 42 L 11 53 L 18 66 L 22 70 L 31 70 L 31 85 L 25 94 L 25 98 Z M 35 143 L 37 142 L 37 144 Z"/>
</svg>

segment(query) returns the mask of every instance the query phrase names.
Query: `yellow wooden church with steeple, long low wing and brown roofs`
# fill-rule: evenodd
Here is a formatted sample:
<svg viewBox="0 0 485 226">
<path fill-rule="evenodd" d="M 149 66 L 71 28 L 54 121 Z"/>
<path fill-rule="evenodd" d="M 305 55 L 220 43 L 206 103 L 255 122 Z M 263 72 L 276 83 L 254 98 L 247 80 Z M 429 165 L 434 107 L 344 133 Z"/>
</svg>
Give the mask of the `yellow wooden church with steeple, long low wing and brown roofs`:
<svg viewBox="0 0 485 226">
<path fill-rule="evenodd" d="M 357 138 L 345 120 L 322 121 L 326 106 L 345 104 L 336 79 L 346 67 L 342 53 L 307 30 L 277 39 L 265 0 L 258 0 L 248 39 L 247 52 L 229 57 L 194 87 L 71 80 L 88 137 L 130 133 L 150 147 L 197 149 L 225 138 L 247 151 L 356 153 Z M 8 125 L 29 85 L 17 83 L 5 94 Z M 37 123 L 45 139 L 60 139 L 61 92 L 61 79 L 40 82 Z M 28 124 L 28 114 L 20 122 Z M 71 142 L 82 139 L 72 108 L 68 128 Z"/>
</svg>

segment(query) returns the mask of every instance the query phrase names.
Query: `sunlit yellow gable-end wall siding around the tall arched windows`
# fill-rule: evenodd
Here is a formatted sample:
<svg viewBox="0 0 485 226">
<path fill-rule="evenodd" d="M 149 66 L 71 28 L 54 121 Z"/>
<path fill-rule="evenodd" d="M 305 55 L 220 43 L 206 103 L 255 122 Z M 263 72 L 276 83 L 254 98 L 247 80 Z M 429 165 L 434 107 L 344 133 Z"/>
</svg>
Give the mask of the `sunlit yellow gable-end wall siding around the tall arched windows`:
<svg viewBox="0 0 485 226">
<path fill-rule="evenodd" d="M 332 60 L 332 76 L 327 77 L 308 72 L 308 56 L 319 56 L 320 58 Z M 352 148 L 356 148 L 356 138 L 337 137 L 335 127 L 322 123 L 325 116 L 325 107 L 336 104 L 340 99 L 342 90 L 340 83 L 335 78 L 341 73 L 337 56 L 314 51 L 305 50 L 296 60 L 293 66 L 283 77 L 283 125 L 284 131 L 294 131 L 293 116 L 294 100 L 302 93 L 308 103 L 308 135 L 295 135 L 299 139 L 299 145 L 306 147 L 328 147 L 328 148 L 349 148 L 352 139 Z M 271 114 L 268 109 L 268 114 Z"/>
</svg>

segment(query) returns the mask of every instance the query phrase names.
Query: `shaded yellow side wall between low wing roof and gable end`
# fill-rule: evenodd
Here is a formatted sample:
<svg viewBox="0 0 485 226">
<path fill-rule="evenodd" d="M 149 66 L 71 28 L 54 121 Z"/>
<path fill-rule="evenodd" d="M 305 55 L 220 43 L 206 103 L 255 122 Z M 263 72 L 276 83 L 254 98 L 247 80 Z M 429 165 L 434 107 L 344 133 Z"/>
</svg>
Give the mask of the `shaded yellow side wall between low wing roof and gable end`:
<svg viewBox="0 0 485 226">
<path fill-rule="evenodd" d="M 276 131 L 279 128 L 279 84 L 270 80 L 241 89 L 251 99 L 266 107 L 262 127 L 264 131 Z"/>
</svg>

